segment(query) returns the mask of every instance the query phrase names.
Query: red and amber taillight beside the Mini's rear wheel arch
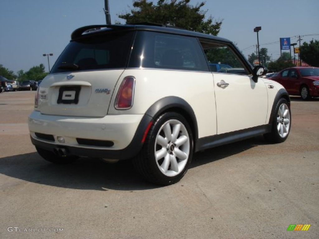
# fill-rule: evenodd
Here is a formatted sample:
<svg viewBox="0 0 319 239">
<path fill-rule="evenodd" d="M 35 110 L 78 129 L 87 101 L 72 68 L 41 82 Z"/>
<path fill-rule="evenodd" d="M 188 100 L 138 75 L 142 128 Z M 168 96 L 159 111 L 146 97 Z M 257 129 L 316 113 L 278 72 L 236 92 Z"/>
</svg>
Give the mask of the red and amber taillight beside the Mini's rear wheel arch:
<svg viewBox="0 0 319 239">
<path fill-rule="evenodd" d="M 127 110 L 133 105 L 135 78 L 133 76 L 126 76 L 115 98 L 115 109 Z"/>
</svg>

